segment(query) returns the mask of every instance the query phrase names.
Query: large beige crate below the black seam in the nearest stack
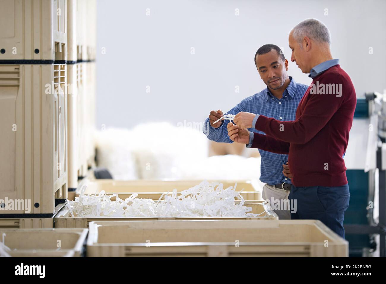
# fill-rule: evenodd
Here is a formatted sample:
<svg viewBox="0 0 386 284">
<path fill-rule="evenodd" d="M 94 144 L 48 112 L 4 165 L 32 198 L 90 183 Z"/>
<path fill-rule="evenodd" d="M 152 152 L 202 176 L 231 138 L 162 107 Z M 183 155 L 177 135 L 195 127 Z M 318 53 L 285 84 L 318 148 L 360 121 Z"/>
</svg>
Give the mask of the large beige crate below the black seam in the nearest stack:
<svg viewBox="0 0 386 284">
<path fill-rule="evenodd" d="M 65 84 L 66 65 L 0 65 L 0 199 L 31 203 L 0 214 L 54 213 L 67 198 Z"/>
</svg>

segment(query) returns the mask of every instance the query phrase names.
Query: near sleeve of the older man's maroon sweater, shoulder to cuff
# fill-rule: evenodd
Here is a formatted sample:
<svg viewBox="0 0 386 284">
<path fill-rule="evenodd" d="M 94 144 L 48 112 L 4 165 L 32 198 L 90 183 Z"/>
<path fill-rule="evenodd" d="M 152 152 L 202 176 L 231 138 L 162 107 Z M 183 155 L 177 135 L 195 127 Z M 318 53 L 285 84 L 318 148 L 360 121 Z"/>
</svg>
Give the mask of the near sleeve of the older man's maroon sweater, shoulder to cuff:
<svg viewBox="0 0 386 284">
<path fill-rule="evenodd" d="M 340 94 L 315 93 L 311 88 L 310 93 L 305 95 L 308 96 L 306 105 L 296 120 L 280 121 L 260 115 L 255 128 L 269 136 L 289 143 L 305 144 L 310 141 L 337 112 L 345 97 L 344 84 L 342 84 L 342 79 L 339 75 L 330 74 L 321 79 L 318 86 L 324 84 L 325 88 L 327 88 L 329 87 L 327 85 L 338 84 Z M 334 93 L 337 93 L 337 90 Z"/>
</svg>

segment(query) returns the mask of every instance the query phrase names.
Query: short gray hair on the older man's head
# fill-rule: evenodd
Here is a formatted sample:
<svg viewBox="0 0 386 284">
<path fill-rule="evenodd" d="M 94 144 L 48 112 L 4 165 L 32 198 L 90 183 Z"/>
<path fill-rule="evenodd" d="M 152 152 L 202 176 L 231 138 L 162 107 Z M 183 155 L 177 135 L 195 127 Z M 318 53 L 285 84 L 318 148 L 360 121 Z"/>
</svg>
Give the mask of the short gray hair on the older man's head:
<svg viewBox="0 0 386 284">
<path fill-rule="evenodd" d="M 320 20 L 310 18 L 301 21 L 292 30 L 292 36 L 301 43 L 303 37 L 307 36 L 313 41 L 331 44 L 330 30 Z"/>
</svg>

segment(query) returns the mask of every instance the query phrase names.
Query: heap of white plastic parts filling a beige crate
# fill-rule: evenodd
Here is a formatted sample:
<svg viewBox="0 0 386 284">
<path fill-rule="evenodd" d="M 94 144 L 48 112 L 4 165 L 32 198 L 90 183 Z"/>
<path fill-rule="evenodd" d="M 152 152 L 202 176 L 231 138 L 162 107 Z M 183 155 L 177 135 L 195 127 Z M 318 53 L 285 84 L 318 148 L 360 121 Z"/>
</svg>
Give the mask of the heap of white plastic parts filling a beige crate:
<svg viewBox="0 0 386 284">
<path fill-rule="evenodd" d="M 236 192 L 236 186 L 237 183 L 224 189 L 222 183 L 203 181 L 182 191 L 179 196 L 174 189 L 173 193 L 162 194 L 158 200 L 137 198 L 136 193 L 125 200 L 117 194 L 107 195 L 104 191 L 98 195 L 81 193 L 75 201 L 68 201 L 68 208 L 73 217 L 258 216 L 248 213 L 252 208 L 244 205 L 244 198 L 240 195 L 241 191 Z M 241 200 L 236 203 L 237 196 Z M 112 197 L 116 200 L 111 200 Z"/>
</svg>

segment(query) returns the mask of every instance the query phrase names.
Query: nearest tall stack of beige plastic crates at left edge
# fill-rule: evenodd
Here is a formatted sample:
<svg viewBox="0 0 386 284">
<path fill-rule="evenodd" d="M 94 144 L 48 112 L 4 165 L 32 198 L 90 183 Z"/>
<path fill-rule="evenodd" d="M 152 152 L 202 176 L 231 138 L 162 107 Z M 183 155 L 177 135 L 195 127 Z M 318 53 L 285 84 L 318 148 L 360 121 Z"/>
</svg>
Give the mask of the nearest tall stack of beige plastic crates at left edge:
<svg viewBox="0 0 386 284">
<path fill-rule="evenodd" d="M 0 9 L 0 227 L 52 227 L 67 198 L 67 1 Z"/>
</svg>

